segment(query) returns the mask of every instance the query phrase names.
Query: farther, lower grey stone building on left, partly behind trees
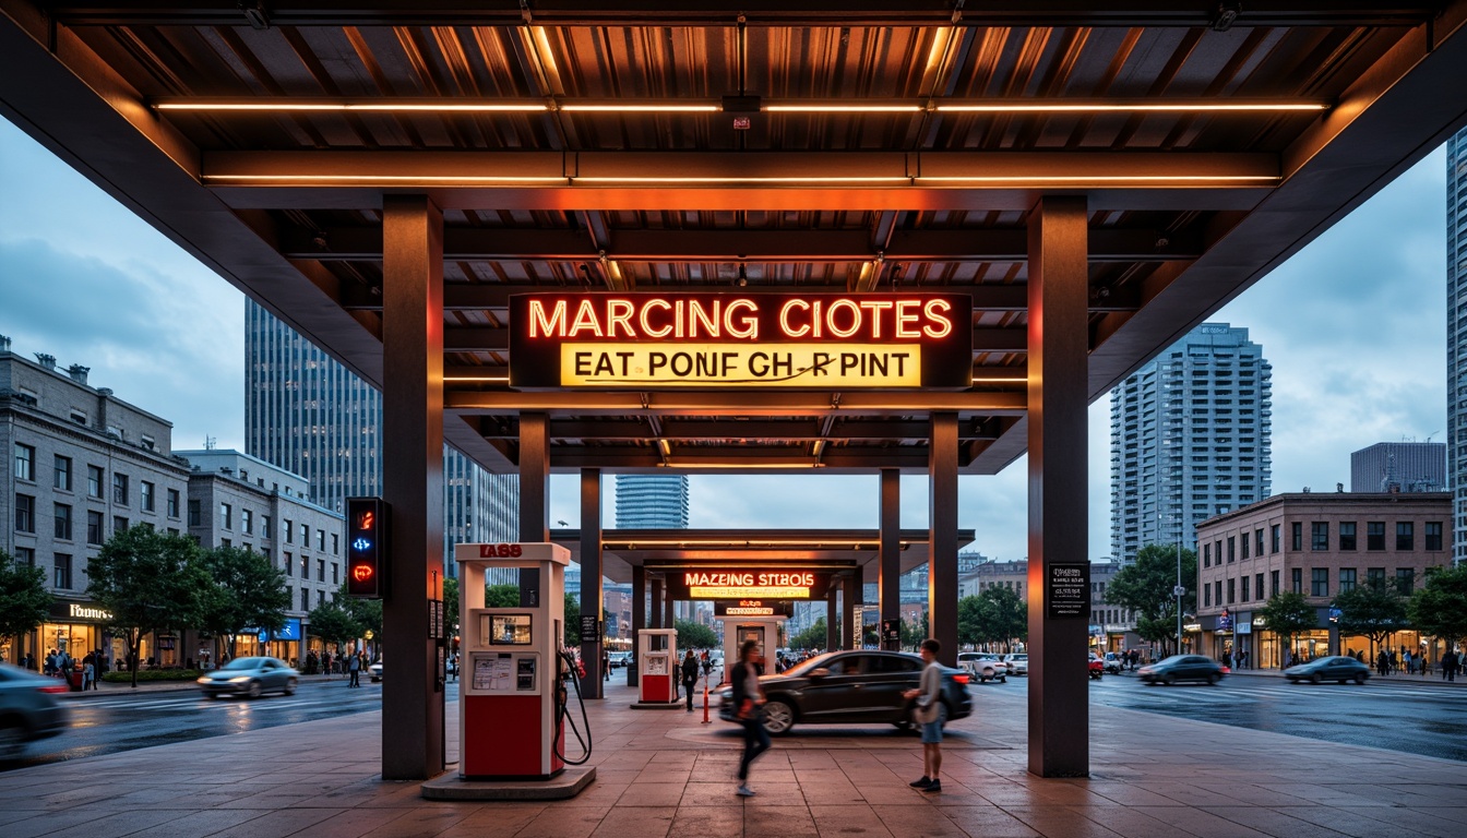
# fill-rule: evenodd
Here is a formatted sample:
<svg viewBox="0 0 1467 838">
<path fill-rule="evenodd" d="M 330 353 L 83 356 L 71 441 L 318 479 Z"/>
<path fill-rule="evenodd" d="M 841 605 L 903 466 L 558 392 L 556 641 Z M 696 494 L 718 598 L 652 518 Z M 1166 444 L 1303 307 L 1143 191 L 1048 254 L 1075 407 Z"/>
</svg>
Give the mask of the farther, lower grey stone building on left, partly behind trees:
<svg viewBox="0 0 1467 838">
<path fill-rule="evenodd" d="M 257 550 L 285 571 L 290 606 L 277 633 L 248 633 L 235 655 L 271 655 L 301 660 L 312 644 L 311 609 L 334 600 L 346 578 L 345 518 L 310 502 L 307 480 L 263 459 L 230 449 L 180 451 L 192 464 L 188 478 L 188 531 L 205 547 Z M 302 647 L 302 638 L 310 643 Z M 192 649 L 213 655 L 213 643 Z"/>
</svg>

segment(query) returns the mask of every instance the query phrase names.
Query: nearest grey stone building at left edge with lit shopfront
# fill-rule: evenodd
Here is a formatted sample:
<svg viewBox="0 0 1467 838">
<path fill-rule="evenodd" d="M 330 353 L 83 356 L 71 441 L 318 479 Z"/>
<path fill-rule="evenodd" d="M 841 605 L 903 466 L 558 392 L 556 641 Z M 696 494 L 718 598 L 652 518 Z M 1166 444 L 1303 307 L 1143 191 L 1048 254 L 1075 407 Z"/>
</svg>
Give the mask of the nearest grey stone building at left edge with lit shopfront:
<svg viewBox="0 0 1467 838">
<path fill-rule="evenodd" d="M 119 530 L 185 525 L 189 465 L 172 451 L 172 423 L 92 387 L 87 373 L 75 364 L 62 370 L 45 354 L 26 360 L 0 336 L 0 547 L 43 568 L 56 597 L 37 631 L 0 638 L 0 659 L 10 663 L 25 653 L 41 660 L 51 649 L 123 659 L 123 641 L 106 631 L 107 615 L 87 596 L 87 562 Z M 182 641 L 148 635 L 139 657 L 182 663 Z"/>
</svg>

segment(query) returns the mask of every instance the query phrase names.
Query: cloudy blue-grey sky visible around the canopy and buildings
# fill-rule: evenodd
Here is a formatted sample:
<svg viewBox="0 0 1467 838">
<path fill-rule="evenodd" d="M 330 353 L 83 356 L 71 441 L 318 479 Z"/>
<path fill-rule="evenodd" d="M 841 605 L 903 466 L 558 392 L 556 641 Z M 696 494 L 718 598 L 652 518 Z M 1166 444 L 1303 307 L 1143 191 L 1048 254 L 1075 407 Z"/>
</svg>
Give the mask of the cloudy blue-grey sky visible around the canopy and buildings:
<svg viewBox="0 0 1467 838">
<path fill-rule="evenodd" d="M 1273 492 L 1350 483 L 1350 452 L 1446 429 L 1445 153 L 1213 316 L 1273 365 Z M 25 357 L 91 367 L 89 383 L 173 423 L 173 446 L 244 449 L 244 296 L 0 119 L 0 335 Z M 1090 408 L 1090 556 L 1111 552 L 1109 404 Z M 967 549 L 1021 559 L 1025 461 L 959 480 Z M 610 490 L 610 481 L 607 481 Z M 574 478 L 552 521 L 578 521 Z M 610 509 L 607 509 L 610 512 Z M 876 527 L 874 477 L 694 477 L 694 527 Z M 923 478 L 902 525 L 927 525 Z"/>
</svg>

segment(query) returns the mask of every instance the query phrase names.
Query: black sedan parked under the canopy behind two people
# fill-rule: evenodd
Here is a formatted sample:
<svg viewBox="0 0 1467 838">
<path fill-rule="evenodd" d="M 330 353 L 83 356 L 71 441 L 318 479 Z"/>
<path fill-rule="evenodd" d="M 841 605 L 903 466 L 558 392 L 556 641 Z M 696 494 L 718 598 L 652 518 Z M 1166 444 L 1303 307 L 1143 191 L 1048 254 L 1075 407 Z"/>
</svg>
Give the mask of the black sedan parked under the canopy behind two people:
<svg viewBox="0 0 1467 838">
<path fill-rule="evenodd" d="M 764 704 L 764 729 L 788 732 L 795 724 L 889 724 L 912 726 L 914 702 L 902 693 L 921 681 L 921 657 L 904 652 L 830 652 L 811 657 L 782 675 L 758 679 L 769 702 Z M 945 721 L 962 719 L 973 712 L 968 675 L 945 669 L 942 706 Z M 736 721 L 734 690 L 717 693 L 719 718 Z"/>
</svg>

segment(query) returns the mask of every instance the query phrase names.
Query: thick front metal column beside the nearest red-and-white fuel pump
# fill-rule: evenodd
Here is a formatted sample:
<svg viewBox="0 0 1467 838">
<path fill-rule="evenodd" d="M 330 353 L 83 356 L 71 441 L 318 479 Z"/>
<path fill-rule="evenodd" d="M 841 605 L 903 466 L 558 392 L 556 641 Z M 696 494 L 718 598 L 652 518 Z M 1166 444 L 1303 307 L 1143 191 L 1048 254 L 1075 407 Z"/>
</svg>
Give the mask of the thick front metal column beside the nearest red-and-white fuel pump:
<svg viewBox="0 0 1467 838">
<path fill-rule="evenodd" d="M 383 198 L 383 499 L 392 506 L 381 690 L 381 778 L 443 772 L 443 685 L 428 600 L 443 597 L 443 213 Z"/>
</svg>

